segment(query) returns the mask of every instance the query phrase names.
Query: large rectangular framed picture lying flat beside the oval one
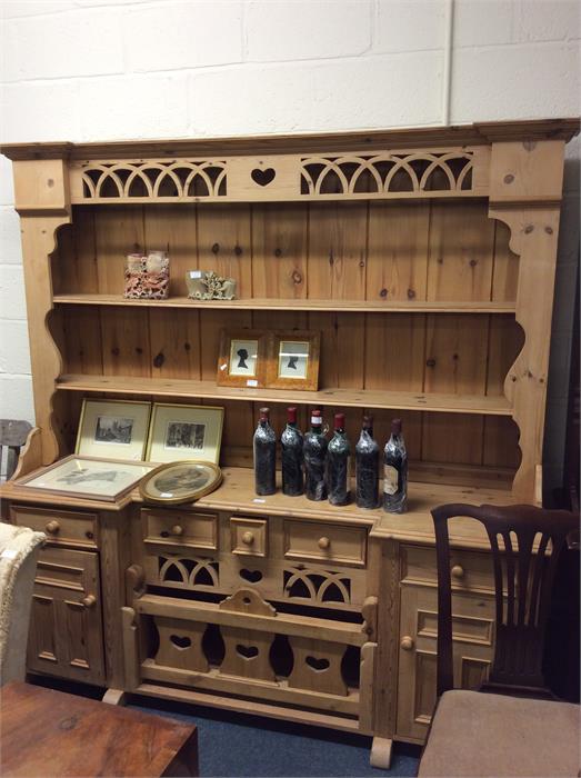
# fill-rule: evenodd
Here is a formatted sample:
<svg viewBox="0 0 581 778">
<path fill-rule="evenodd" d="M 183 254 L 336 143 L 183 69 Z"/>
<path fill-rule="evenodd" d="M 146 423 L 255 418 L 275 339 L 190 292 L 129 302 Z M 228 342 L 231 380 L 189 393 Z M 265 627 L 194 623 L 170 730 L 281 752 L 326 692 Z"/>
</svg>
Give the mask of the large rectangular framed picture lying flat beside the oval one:
<svg viewBox="0 0 581 778">
<path fill-rule="evenodd" d="M 129 462 L 123 459 L 70 457 L 19 478 L 17 483 L 29 489 L 68 495 L 87 500 L 114 502 L 151 471 L 149 462 Z"/>
</svg>

